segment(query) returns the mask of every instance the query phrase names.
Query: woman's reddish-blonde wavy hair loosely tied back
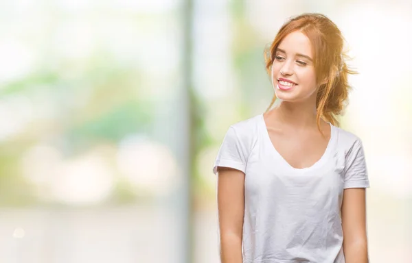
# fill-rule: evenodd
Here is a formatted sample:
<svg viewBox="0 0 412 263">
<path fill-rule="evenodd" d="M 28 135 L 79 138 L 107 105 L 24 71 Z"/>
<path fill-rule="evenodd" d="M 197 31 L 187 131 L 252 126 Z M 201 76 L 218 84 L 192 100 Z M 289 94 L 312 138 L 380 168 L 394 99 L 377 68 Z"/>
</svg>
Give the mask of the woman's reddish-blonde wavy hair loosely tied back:
<svg viewBox="0 0 412 263">
<path fill-rule="evenodd" d="M 285 36 L 297 30 L 305 34 L 312 44 L 314 69 L 317 86 L 319 86 L 316 99 L 317 127 L 321 132 L 321 118 L 339 127 L 340 123 L 336 116 L 344 110 L 347 95 L 352 89 L 347 82 L 347 76 L 357 72 L 347 66 L 346 61 L 349 57 L 343 51 L 345 39 L 339 28 L 328 17 L 323 14 L 305 13 L 286 21 L 279 29 L 270 48 L 264 52 L 266 71 L 271 76 L 277 46 Z M 324 83 L 325 79 L 326 83 Z M 321 84 L 322 82 L 324 84 Z M 271 109 L 275 100 L 276 95 L 273 95 L 266 112 Z"/>
</svg>

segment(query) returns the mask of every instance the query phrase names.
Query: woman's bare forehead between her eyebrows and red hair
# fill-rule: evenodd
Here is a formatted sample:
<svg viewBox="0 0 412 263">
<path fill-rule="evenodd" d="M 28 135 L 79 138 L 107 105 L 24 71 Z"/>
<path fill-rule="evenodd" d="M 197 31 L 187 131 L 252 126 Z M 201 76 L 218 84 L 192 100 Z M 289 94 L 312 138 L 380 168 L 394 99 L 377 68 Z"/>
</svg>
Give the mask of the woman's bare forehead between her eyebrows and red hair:
<svg viewBox="0 0 412 263">
<path fill-rule="evenodd" d="M 283 49 L 290 55 L 301 53 L 313 58 L 312 44 L 310 43 L 309 38 L 300 31 L 295 31 L 286 35 L 279 43 L 278 48 Z"/>
</svg>

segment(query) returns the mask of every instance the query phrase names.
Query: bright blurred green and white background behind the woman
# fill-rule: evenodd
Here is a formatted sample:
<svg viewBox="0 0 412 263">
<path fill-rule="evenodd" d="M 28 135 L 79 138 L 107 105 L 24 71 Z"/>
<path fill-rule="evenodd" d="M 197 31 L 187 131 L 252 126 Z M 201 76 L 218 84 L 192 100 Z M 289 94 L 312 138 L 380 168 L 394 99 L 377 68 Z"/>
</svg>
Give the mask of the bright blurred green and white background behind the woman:
<svg viewBox="0 0 412 263">
<path fill-rule="evenodd" d="M 264 48 L 321 12 L 359 75 L 371 262 L 412 262 L 412 2 L 0 1 L 0 262 L 219 262 L 212 165 Z"/>
</svg>

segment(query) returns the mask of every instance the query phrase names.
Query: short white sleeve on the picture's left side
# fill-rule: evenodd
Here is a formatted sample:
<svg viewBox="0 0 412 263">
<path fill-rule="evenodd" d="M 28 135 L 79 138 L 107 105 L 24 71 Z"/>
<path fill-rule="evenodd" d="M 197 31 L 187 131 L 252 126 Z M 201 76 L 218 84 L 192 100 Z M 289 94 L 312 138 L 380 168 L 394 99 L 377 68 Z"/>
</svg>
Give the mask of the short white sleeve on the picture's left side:
<svg viewBox="0 0 412 263">
<path fill-rule="evenodd" d="M 217 175 L 218 166 L 234 168 L 246 173 L 247 155 L 245 142 L 239 139 L 233 126 L 229 127 L 214 162 L 214 174 Z"/>
</svg>

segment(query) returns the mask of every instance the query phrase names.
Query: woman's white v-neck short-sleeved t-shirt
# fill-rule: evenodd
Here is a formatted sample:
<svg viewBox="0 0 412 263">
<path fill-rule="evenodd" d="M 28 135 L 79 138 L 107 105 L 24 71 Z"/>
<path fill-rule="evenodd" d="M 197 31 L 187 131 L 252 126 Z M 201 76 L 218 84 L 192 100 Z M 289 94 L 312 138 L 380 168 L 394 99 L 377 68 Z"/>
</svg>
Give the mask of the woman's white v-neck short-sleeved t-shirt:
<svg viewBox="0 0 412 263">
<path fill-rule="evenodd" d="M 244 263 L 344 263 L 343 189 L 368 188 L 361 139 L 332 125 L 323 156 L 293 168 L 269 137 L 263 114 L 229 127 L 213 171 L 244 179 Z"/>
</svg>

